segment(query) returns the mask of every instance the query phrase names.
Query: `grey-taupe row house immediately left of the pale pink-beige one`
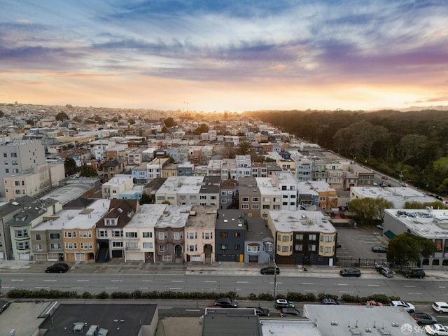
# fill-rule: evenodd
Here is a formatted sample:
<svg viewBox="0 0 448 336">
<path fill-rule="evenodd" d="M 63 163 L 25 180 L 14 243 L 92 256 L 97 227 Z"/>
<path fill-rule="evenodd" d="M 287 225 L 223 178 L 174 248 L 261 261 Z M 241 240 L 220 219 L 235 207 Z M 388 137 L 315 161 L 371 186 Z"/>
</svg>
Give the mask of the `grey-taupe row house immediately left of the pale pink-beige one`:
<svg viewBox="0 0 448 336">
<path fill-rule="evenodd" d="M 169 205 L 155 223 L 155 261 L 184 261 L 185 227 L 190 216 L 191 205 Z"/>
</svg>

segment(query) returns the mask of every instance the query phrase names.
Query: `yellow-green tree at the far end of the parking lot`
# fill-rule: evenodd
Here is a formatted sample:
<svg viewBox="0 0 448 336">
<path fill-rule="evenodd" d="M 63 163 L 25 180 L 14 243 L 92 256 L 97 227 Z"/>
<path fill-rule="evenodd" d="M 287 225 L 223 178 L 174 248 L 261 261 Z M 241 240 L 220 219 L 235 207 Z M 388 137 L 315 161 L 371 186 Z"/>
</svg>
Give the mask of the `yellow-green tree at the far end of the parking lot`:
<svg viewBox="0 0 448 336">
<path fill-rule="evenodd" d="M 370 224 L 373 221 L 384 220 L 384 209 L 391 208 L 392 202 L 378 198 L 358 198 L 351 200 L 349 203 L 349 209 L 353 214 L 356 214 L 360 224 Z"/>
</svg>

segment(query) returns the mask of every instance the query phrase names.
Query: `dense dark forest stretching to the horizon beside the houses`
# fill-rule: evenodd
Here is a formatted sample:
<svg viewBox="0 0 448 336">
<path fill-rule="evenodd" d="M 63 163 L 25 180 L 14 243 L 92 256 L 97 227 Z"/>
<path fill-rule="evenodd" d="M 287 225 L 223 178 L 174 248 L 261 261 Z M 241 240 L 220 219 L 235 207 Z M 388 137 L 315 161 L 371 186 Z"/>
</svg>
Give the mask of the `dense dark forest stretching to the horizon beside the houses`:
<svg viewBox="0 0 448 336">
<path fill-rule="evenodd" d="M 319 144 L 429 193 L 448 195 L 448 113 L 426 110 L 253 111 L 297 139 Z"/>
</svg>

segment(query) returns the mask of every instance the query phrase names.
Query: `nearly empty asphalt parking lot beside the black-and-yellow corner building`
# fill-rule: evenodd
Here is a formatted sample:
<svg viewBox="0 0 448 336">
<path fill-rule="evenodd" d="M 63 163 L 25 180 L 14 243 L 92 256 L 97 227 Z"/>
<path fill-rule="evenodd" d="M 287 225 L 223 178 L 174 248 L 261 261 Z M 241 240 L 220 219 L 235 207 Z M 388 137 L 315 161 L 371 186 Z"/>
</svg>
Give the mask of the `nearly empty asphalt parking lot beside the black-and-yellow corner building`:
<svg viewBox="0 0 448 336">
<path fill-rule="evenodd" d="M 375 263 L 385 264 L 386 253 L 374 253 L 373 246 L 387 246 L 388 238 L 375 227 L 337 228 L 337 265 L 374 267 Z"/>
</svg>

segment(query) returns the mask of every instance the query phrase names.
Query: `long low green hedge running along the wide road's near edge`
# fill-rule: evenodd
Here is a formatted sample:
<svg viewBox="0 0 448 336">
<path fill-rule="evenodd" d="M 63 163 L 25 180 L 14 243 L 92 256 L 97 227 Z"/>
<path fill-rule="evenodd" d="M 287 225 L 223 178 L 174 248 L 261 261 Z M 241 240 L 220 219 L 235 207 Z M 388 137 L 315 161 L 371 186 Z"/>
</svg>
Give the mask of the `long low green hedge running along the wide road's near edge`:
<svg viewBox="0 0 448 336">
<path fill-rule="evenodd" d="M 84 292 L 78 294 L 75 291 L 61 291 L 61 290 L 25 290 L 25 289 L 13 289 L 6 293 L 6 297 L 10 299 L 183 299 L 183 300 L 214 300 L 216 297 L 230 297 L 232 299 L 238 298 L 239 300 L 251 300 L 251 301 L 273 301 L 274 297 L 270 293 L 251 293 L 247 297 L 240 297 L 236 292 L 216 293 L 216 292 L 158 292 L 156 290 L 152 292 L 142 292 L 141 290 L 135 290 L 132 293 L 128 292 L 113 292 L 109 295 L 105 291 L 98 294 L 91 294 Z M 370 295 L 368 297 L 359 297 L 358 295 L 337 295 L 319 293 L 317 296 L 314 293 L 297 293 L 288 292 L 286 295 L 279 294 L 275 298 L 284 298 L 293 302 L 320 302 L 324 297 L 330 297 L 336 301 L 343 301 L 346 303 L 359 303 L 374 300 L 383 304 L 388 304 L 392 300 L 400 300 L 400 297 L 389 297 L 382 294 Z"/>
</svg>

